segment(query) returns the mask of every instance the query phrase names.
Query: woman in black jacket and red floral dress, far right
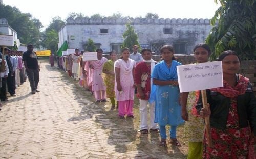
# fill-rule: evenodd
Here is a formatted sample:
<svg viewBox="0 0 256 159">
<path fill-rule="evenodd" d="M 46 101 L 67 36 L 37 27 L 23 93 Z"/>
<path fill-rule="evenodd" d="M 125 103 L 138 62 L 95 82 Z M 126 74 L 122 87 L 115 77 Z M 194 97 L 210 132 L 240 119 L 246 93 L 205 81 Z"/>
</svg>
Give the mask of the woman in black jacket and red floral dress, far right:
<svg viewBox="0 0 256 159">
<path fill-rule="evenodd" d="M 237 74 L 240 59 L 236 52 L 224 51 L 218 61 L 222 61 L 223 87 L 207 90 L 210 112 L 198 108 L 202 117 L 210 115 L 213 144 L 204 146 L 203 158 L 253 158 L 256 99 L 252 85 Z"/>
</svg>

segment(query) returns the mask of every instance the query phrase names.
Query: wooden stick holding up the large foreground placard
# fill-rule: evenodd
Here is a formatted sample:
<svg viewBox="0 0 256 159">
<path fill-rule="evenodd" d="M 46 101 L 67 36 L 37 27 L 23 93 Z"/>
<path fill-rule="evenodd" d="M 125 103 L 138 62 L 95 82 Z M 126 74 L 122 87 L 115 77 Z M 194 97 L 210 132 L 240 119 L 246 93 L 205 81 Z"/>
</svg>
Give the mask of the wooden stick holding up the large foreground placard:
<svg viewBox="0 0 256 159">
<path fill-rule="evenodd" d="M 206 90 L 202 90 L 201 94 L 202 94 L 203 107 L 204 107 L 204 109 L 209 111 L 208 107 L 207 107 Z M 208 142 L 207 146 L 212 147 L 212 138 L 211 138 L 211 134 L 210 134 L 210 116 L 205 117 L 204 121 L 205 121 L 206 139 L 207 139 L 207 142 Z"/>
</svg>

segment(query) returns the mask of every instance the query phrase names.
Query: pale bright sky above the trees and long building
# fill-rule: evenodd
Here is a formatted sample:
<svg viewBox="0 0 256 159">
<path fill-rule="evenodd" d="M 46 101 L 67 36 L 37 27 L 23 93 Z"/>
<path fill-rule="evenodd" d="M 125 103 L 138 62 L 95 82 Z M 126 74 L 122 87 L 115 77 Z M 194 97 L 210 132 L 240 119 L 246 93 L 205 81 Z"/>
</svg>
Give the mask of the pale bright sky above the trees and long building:
<svg viewBox="0 0 256 159">
<path fill-rule="evenodd" d="M 17 7 L 22 13 L 30 13 L 41 21 L 44 28 L 52 18 L 59 16 L 65 20 L 72 12 L 89 17 L 97 13 L 102 16 L 121 13 L 135 18 L 155 13 L 159 18 L 210 19 L 220 6 L 214 0 L 3 0 L 3 3 Z"/>
</svg>

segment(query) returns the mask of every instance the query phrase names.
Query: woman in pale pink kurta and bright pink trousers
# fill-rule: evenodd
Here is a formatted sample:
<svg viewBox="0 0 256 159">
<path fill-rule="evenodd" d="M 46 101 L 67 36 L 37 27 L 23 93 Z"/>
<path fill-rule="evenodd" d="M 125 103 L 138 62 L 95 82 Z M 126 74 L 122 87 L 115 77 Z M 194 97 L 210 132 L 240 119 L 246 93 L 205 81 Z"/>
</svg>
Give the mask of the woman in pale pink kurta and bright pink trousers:
<svg viewBox="0 0 256 159">
<path fill-rule="evenodd" d="M 118 115 L 135 118 L 133 115 L 134 69 L 136 62 L 129 58 L 129 48 L 122 49 L 122 59 L 115 62 L 115 92 L 118 101 Z"/>
</svg>

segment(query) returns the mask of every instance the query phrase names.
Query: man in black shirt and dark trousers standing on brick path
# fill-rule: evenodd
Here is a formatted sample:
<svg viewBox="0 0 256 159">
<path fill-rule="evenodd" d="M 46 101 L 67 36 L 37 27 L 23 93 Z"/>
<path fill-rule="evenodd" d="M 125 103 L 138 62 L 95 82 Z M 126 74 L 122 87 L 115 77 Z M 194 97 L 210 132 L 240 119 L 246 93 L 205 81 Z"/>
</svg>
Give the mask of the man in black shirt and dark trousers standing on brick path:
<svg viewBox="0 0 256 159">
<path fill-rule="evenodd" d="M 28 50 L 23 53 L 22 60 L 24 61 L 24 66 L 29 77 L 31 93 L 35 94 L 35 92 L 40 92 L 39 90 L 37 90 L 40 68 L 38 65 L 38 57 L 33 51 L 34 46 L 32 44 L 28 44 L 27 49 Z"/>
</svg>

